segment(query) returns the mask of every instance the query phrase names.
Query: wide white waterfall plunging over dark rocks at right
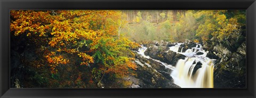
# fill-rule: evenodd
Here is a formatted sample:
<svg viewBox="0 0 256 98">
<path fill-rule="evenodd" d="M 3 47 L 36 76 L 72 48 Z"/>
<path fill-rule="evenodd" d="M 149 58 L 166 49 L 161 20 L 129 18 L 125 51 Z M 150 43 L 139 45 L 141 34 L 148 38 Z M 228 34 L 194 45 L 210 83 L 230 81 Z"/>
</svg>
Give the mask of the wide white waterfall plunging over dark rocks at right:
<svg viewBox="0 0 256 98">
<path fill-rule="evenodd" d="M 178 61 L 178 63 L 176 64 L 176 67 L 171 73 L 171 76 L 174 79 L 174 83 L 179 85 L 182 88 L 212 88 L 213 87 L 213 69 L 214 69 L 213 61 L 215 59 L 207 58 L 206 57 L 207 52 L 201 49 L 202 46 L 200 44 L 199 46 L 200 46 L 199 48 L 197 48 L 198 46 L 196 46 L 195 48 L 188 49 L 185 52 L 177 52 L 177 54 L 185 55 L 186 58 L 180 59 Z M 203 55 L 196 55 L 197 52 L 202 52 Z M 198 68 L 197 70 L 194 70 L 197 63 L 201 63 L 202 67 Z M 193 74 L 193 72 L 195 73 Z"/>
</svg>

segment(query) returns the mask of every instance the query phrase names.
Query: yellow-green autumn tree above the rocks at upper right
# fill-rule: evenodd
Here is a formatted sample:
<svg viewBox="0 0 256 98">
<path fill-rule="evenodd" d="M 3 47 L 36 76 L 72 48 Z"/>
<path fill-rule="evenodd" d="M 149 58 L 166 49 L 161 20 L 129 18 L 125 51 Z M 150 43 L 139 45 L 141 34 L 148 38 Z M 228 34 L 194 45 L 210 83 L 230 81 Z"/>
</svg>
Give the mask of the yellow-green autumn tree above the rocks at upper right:
<svg viewBox="0 0 256 98">
<path fill-rule="evenodd" d="M 238 17 L 227 17 L 229 12 L 226 10 L 199 11 L 195 15 L 201 23 L 196 35 L 203 41 L 216 38 L 219 42 L 226 42 L 231 47 L 241 35 L 242 24 L 238 23 Z"/>
</svg>

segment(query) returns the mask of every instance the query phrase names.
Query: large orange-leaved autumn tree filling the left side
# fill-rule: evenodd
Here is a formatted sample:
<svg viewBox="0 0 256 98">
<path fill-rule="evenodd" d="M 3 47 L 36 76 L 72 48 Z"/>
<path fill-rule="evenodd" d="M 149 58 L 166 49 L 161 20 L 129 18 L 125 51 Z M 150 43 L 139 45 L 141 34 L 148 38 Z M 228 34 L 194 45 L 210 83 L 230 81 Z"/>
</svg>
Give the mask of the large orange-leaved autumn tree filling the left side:
<svg viewBox="0 0 256 98">
<path fill-rule="evenodd" d="M 15 36 L 26 34 L 34 44 L 46 43 L 35 45 L 43 59 L 37 62 L 49 66 L 55 76 L 65 76 L 63 68 L 71 66 L 74 69 L 69 70 L 76 76 L 66 77 L 77 77 L 74 78 L 76 84 L 85 87 L 97 84 L 106 74 L 122 79 L 136 69 L 131 49 L 138 44 L 118 35 L 123 25 L 121 13 L 110 10 L 12 10 L 10 30 Z M 109 20 L 120 22 L 111 24 Z M 81 72 L 80 66 L 87 72 Z M 53 79 L 52 82 L 58 81 Z"/>
</svg>

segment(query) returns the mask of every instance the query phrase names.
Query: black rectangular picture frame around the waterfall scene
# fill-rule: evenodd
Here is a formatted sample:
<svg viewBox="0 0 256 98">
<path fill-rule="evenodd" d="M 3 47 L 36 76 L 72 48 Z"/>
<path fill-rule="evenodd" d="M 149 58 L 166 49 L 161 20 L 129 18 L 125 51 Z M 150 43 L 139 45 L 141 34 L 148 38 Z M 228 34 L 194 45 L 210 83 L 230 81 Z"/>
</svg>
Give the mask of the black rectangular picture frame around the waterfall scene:
<svg viewBox="0 0 256 98">
<path fill-rule="evenodd" d="M 1 0 L 0 97 L 255 97 L 255 0 Z M 246 10 L 246 88 L 10 88 L 10 10 Z"/>
</svg>

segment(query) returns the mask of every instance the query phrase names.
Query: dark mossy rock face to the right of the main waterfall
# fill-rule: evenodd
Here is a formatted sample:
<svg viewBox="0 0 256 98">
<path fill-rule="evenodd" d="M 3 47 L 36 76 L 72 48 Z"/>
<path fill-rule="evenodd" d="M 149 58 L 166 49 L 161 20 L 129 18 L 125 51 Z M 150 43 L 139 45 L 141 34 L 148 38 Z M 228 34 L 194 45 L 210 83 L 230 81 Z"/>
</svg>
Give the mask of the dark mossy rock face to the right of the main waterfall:
<svg viewBox="0 0 256 98">
<path fill-rule="evenodd" d="M 243 49 L 245 47 L 243 44 L 245 42 L 239 48 Z M 246 87 L 246 55 L 241 49 L 237 49 L 237 52 L 233 53 L 227 50 L 219 51 L 218 54 L 222 58 L 215 64 L 214 88 Z"/>
</svg>

